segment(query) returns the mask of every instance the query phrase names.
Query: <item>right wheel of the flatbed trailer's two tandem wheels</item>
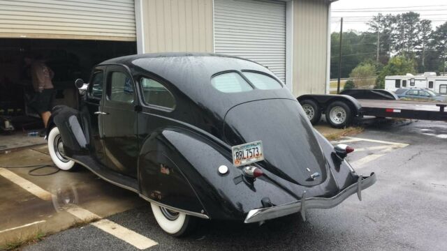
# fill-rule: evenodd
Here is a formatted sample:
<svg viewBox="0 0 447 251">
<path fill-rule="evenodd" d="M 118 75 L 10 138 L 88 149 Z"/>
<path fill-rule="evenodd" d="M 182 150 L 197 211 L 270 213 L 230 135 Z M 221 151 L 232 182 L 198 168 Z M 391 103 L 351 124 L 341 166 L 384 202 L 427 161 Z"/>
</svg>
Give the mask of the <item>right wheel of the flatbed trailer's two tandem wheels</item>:
<svg viewBox="0 0 447 251">
<path fill-rule="evenodd" d="M 326 121 L 333 128 L 344 128 L 349 126 L 352 120 L 351 108 L 345 102 L 335 101 L 326 109 Z"/>
</svg>

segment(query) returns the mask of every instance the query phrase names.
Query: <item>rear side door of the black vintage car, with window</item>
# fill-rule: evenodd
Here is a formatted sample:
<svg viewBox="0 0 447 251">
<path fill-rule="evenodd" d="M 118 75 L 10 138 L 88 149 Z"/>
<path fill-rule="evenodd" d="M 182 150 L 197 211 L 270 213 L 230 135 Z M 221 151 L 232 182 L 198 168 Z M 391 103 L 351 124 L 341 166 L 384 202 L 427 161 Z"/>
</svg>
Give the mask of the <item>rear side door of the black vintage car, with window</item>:
<svg viewBox="0 0 447 251">
<path fill-rule="evenodd" d="M 101 107 L 107 166 L 136 178 L 138 128 L 135 84 L 123 66 L 108 66 L 105 98 Z"/>
</svg>

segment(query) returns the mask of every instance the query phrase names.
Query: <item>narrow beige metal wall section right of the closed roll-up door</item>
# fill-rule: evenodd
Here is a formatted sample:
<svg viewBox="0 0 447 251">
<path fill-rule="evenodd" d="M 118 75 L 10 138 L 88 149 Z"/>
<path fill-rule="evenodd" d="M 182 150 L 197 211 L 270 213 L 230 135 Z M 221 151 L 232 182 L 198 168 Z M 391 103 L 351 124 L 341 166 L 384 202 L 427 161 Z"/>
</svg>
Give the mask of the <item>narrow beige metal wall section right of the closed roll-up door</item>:
<svg viewBox="0 0 447 251">
<path fill-rule="evenodd" d="M 293 94 L 323 94 L 328 81 L 328 5 L 325 0 L 293 1 Z"/>
</svg>

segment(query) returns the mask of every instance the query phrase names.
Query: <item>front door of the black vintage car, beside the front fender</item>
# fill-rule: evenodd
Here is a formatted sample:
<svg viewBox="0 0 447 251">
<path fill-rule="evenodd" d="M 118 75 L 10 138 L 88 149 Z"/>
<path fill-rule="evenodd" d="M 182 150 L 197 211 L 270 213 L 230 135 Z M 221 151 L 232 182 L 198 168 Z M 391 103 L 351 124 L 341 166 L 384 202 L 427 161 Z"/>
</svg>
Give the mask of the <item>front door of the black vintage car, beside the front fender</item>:
<svg viewBox="0 0 447 251">
<path fill-rule="evenodd" d="M 103 143 L 102 143 L 102 117 L 99 116 L 101 101 L 103 100 L 103 89 L 105 82 L 105 66 L 97 66 L 91 73 L 85 106 L 82 114 L 87 114 L 89 128 L 90 151 L 98 162 L 105 165 Z"/>
</svg>

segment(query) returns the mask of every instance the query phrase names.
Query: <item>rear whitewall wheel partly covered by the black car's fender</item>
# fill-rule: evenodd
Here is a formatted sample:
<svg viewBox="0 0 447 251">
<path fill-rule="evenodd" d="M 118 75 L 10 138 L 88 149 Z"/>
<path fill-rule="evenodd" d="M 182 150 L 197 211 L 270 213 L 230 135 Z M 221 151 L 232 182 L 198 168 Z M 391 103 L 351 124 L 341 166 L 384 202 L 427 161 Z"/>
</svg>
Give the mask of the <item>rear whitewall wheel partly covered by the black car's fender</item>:
<svg viewBox="0 0 447 251">
<path fill-rule="evenodd" d="M 172 236 L 184 236 L 196 227 L 197 219 L 191 215 L 172 211 L 154 203 L 151 203 L 151 207 L 161 229 Z"/>
</svg>

